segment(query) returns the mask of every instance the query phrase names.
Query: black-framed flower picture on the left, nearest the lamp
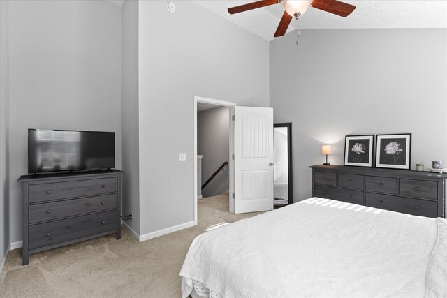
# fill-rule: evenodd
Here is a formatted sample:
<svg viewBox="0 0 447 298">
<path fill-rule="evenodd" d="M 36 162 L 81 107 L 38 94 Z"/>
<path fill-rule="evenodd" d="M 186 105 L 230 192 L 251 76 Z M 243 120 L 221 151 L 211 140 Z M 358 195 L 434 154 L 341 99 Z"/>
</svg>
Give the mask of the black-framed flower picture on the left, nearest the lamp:
<svg viewBox="0 0 447 298">
<path fill-rule="evenodd" d="M 372 167 L 374 135 L 346 135 L 344 137 L 344 165 Z"/>
</svg>

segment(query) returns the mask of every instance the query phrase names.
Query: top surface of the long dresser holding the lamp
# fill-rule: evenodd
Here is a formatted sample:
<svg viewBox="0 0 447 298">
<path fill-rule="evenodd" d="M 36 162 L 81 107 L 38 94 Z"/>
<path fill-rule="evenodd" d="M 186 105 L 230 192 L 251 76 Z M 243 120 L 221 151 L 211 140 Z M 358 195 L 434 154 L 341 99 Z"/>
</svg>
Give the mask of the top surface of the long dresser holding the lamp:
<svg viewBox="0 0 447 298">
<path fill-rule="evenodd" d="M 381 168 L 376 168 L 376 167 L 349 167 L 349 166 L 344 166 L 344 165 L 311 165 L 309 167 L 314 170 L 320 170 L 320 171 L 326 171 L 326 172 L 340 172 L 340 173 L 346 173 L 346 174 L 447 179 L 447 174 L 439 174 L 439 173 L 433 173 L 433 172 L 419 172 L 419 171 L 411 171 L 411 170 L 381 169 Z"/>
</svg>

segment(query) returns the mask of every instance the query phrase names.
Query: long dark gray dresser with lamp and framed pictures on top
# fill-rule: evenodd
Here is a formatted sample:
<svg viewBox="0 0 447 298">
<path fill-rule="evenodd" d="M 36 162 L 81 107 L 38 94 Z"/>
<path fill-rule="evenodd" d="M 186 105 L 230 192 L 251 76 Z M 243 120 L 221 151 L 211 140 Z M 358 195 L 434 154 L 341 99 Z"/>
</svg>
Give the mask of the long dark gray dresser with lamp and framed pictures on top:
<svg viewBox="0 0 447 298">
<path fill-rule="evenodd" d="M 447 174 L 342 165 L 311 168 L 312 196 L 446 218 Z"/>
</svg>

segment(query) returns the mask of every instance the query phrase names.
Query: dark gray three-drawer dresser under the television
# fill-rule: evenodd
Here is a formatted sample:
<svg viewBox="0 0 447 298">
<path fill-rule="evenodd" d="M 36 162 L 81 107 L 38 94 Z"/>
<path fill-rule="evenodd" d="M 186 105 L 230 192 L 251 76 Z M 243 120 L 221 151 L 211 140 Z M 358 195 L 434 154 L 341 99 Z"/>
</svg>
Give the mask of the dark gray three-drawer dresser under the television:
<svg viewBox="0 0 447 298">
<path fill-rule="evenodd" d="M 121 238 L 122 171 L 20 177 L 23 265 L 31 253 L 107 234 Z"/>
</svg>

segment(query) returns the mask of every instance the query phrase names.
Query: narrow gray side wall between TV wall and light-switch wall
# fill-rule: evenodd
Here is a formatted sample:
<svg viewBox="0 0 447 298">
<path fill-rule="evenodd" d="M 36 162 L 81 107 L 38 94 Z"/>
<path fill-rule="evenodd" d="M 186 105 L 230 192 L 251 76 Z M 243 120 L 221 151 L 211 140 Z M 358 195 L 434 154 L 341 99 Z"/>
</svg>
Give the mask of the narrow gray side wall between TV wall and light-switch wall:
<svg viewBox="0 0 447 298">
<path fill-rule="evenodd" d="M 138 1 L 124 1 L 121 8 L 121 148 L 123 176 L 122 214 L 140 232 L 140 186 L 138 156 Z"/>
</svg>

